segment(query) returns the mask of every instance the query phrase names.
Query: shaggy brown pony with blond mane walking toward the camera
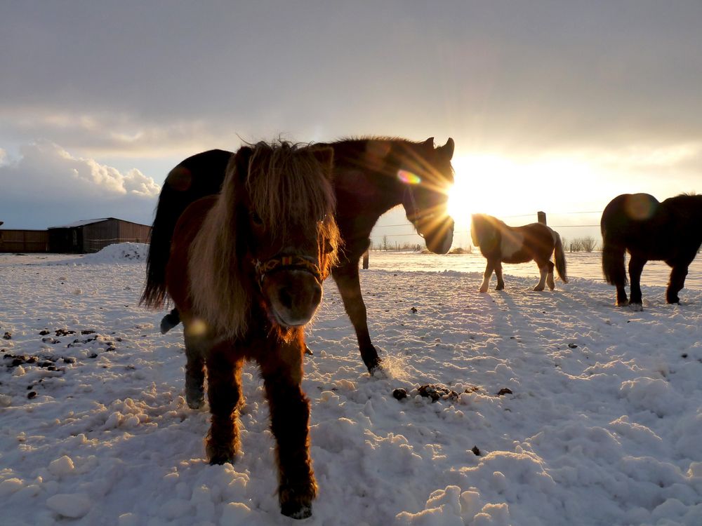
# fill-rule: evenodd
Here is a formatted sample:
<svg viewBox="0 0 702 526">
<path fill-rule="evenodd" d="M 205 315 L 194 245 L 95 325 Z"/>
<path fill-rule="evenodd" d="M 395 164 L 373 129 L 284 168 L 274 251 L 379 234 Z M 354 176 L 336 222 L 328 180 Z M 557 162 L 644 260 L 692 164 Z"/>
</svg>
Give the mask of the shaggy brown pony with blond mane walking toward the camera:
<svg viewBox="0 0 702 526">
<path fill-rule="evenodd" d="M 242 147 L 221 191 L 188 205 L 172 241 L 168 233 L 165 285 L 183 321 L 190 407 L 204 402 L 207 375 L 210 464 L 234 461 L 241 367 L 256 360 L 277 441 L 280 509 L 293 518 L 311 515 L 317 492 L 301 388 L 303 325 L 336 262 L 332 160 L 330 148 Z M 152 240 L 162 246 L 161 234 L 154 230 Z"/>
</svg>

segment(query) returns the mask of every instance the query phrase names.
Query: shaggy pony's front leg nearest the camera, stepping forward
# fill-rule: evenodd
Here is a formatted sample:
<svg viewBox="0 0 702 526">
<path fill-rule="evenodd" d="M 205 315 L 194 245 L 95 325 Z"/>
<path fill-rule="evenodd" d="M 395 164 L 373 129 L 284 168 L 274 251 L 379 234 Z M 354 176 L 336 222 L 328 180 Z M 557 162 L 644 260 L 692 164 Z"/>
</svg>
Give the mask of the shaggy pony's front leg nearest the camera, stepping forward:
<svg viewBox="0 0 702 526">
<path fill-rule="evenodd" d="M 303 348 L 293 346 L 269 351 L 259 363 L 276 440 L 280 513 L 303 519 L 312 515 L 317 483 L 310 457 L 310 400 L 302 390 Z"/>
</svg>

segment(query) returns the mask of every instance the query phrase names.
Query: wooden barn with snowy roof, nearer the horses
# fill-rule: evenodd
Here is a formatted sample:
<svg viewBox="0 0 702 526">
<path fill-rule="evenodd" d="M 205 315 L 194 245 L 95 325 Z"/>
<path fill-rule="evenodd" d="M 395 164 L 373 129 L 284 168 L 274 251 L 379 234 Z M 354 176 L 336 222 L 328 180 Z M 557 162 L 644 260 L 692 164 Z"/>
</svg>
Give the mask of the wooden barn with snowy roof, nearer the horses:
<svg viewBox="0 0 702 526">
<path fill-rule="evenodd" d="M 112 243 L 147 243 L 150 236 L 150 225 L 104 217 L 48 227 L 48 251 L 86 254 Z"/>
</svg>

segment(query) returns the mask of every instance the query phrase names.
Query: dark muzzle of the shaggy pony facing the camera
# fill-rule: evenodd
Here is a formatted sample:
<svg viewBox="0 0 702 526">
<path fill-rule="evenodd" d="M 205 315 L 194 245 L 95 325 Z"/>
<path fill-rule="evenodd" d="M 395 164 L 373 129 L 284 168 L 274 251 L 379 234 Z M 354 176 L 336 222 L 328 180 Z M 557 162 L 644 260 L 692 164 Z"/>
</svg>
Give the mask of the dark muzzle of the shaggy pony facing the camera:
<svg viewBox="0 0 702 526">
<path fill-rule="evenodd" d="M 266 276 L 261 290 L 280 325 L 298 327 L 314 316 L 322 301 L 322 283 L 301 269 L 281 270 Z"/>
</svg>

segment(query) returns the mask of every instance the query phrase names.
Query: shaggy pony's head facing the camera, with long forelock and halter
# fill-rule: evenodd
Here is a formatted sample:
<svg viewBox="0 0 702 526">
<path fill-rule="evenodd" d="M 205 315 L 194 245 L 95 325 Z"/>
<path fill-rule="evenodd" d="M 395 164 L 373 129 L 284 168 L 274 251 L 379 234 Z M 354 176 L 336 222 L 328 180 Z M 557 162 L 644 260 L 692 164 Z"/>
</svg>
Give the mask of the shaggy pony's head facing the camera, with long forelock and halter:
<svg viewBox="0 0 702 526">
<path fill-rule="evenodd" d="M 336 262 L 332 162 L 331 148 L 258 143 L 230 163 L 243 190 L 237 251 L 251 264 L 260 303 L 282 328 L 310 321 Z"/>
</svg>

